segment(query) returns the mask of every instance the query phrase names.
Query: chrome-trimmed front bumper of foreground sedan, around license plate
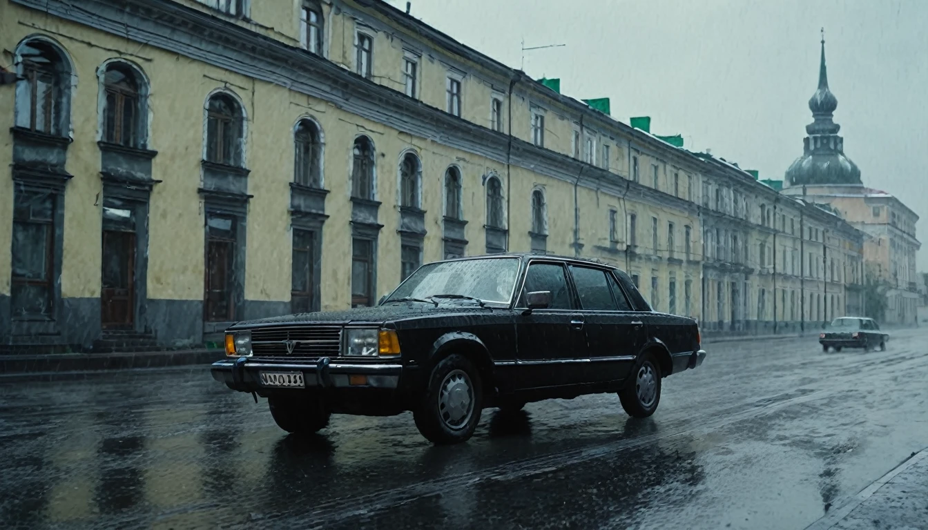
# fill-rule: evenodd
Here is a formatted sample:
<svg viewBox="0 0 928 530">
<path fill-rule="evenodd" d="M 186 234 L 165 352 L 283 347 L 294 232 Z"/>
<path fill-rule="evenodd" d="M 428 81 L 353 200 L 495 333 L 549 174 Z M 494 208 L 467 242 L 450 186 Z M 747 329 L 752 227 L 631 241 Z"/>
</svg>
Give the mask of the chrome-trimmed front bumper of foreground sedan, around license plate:
<svg viewBox="0 0 928 530">
<path fill-rule="evenodd" d="M 322 357 L 317 362 L 270 362 L 266 359 L 238 357 L 216 361 L 210 371 L 214 380 L 225 382 L 229 388 L 242 392 L 275 388 L 261 384 L 259 373 L 262 371 L 302 372 L 306 388 L 395 389 L 399 385 L 403 366 L 336 362 L 329 357 Z"/>
</svg>

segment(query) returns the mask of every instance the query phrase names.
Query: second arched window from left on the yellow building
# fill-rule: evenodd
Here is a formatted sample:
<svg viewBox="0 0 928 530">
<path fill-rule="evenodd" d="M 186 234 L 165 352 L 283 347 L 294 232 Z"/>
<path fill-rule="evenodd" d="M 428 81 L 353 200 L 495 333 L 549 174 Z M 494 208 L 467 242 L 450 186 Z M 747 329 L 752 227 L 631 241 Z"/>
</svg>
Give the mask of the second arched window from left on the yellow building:
<svg viewBox="0 0 928 530">
<path fill-rule="evenodd" d="M 127 147 L 145 145 L 145 86 L 131 66 L 111 62 L 103 73 L 106 106 L 103 108 L 103 140 Z"/>
</svg>

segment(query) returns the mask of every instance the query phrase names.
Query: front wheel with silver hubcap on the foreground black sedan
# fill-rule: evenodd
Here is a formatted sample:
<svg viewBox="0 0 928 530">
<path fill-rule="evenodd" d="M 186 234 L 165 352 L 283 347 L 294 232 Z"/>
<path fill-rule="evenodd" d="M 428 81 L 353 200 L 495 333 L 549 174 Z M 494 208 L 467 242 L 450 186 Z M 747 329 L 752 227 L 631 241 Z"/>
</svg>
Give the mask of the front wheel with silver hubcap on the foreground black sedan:
<svg viewBox="0 0 928 530">
<path fill-rule="evenodd" d="M 470 439 L 482 412 L 480 373 L 466 356 L 452 354 L 432 368 L 413 420 L 419 433 L 432 444 L 449 446 Z"/>
</svg>

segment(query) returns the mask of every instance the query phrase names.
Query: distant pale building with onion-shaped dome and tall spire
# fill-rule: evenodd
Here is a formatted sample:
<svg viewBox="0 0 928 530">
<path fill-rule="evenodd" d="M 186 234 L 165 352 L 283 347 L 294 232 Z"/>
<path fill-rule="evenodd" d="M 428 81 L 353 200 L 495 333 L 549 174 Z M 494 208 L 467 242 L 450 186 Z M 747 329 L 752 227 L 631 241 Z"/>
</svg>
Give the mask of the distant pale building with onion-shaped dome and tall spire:
<svg viewBox="0 0 928 530">
<path fill-rule="evenodd" d="M 783 194 L 828 204 L 845 221 L 867 234 L 865 281 L 886 286 L 884 321 L 913 324 L 918 318 L 915 236 L 919 216 L 896 197 L 865 187 L 857 164 L 844 155 L 840 125 L 832 121 L 838 100 L 828 86 L 825 42 L 821 43 L 818 89 L 809 99 L 813 123 L 806 125 L 803 156 L 786 171 Z"/>
</svg>

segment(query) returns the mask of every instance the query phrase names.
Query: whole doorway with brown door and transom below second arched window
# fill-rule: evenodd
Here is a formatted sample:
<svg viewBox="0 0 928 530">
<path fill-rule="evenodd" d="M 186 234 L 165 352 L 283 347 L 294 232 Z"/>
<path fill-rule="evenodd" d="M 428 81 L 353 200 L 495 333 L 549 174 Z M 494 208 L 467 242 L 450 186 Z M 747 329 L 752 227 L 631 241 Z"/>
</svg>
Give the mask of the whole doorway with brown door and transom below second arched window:
<svg viewBox="0 0 928 530">
<path fill-rule="evenodd" d="M 135 219 L 132 210 L 103 207 L 100 323 L 107 330 L 135 325 Z"/>
</svg>

